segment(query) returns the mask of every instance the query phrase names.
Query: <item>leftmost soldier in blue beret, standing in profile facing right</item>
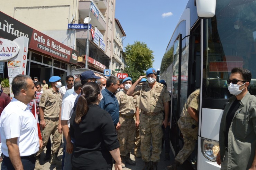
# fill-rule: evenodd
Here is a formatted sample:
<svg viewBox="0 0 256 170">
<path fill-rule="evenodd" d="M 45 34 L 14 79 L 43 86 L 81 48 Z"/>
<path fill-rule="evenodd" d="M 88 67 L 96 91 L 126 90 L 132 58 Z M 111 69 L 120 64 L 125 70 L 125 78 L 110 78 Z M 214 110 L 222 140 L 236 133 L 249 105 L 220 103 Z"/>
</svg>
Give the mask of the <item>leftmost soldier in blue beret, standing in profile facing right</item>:
<svg viewBox="0 0 256 170">
<path fill-rule="evenodd" d="M 35 169 L 42 169 L 42 166 L 39 163 L 40 154 L 43 152 L 51 134 L 53 135 L 53 146 L 50 163 L 56 164 L 57 166 L 61 165 L 61 161 L 57 158 L 62 140 L 61 119 L 59 119 L 62 97 L 61 93 L 58 91 L 61 87 L 60 81 L 61 77 L 59 76 L 52 76 L 49 79 L 52 88 L 43 92 L 39 103 L 40 128 L 42 129 L 43 147 L 36 155 Z"/>
</svg>

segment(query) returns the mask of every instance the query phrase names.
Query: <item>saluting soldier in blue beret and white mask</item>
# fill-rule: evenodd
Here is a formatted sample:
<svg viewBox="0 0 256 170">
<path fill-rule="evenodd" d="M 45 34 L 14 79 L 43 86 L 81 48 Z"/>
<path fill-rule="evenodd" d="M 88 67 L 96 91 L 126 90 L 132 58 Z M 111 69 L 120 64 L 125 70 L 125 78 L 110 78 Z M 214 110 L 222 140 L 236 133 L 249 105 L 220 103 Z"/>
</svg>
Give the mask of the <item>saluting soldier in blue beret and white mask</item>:
<svg viewBox="0 0 256 170">
<path fill-rule="evenodd" d="M 137 86 L 143 77 L 147 77 L 148 83 Z M 157 170 L 157 162 L 160 161 L 162 151 L 162 124 L 165 128 L 168 124 L 169 101 L 171 97 L 167 92 L 167 88 L 163 84 L 156 82 L 156 77 L 156 69 L 149 68 L 146 71 L 146 76 L 140 76 L 127 91 L 129 96 L 139 95 L 140 97 L 138 107 L 141 109 L 139 120 L 140 150 L 142 160 L 145 163 L 143 170 L 150 170 L 150 168 Z M 165 112 L 165 117 L 163 111 Z M 151 139 L 152 154 L 150 155 Z"/>
</svg>

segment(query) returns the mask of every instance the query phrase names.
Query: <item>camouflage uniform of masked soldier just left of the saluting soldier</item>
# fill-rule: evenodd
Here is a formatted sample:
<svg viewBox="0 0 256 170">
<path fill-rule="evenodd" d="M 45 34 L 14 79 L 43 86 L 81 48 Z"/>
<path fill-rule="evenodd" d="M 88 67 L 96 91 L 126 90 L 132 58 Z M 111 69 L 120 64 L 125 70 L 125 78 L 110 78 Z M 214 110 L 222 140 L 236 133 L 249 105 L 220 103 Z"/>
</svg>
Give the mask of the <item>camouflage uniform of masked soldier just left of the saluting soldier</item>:
<svg viewBox="0 0 256 170">
<path fill-rule="evenodd" d="M 136 112 L 136 96 L 128 96 L 126 91 L 121 91 L 116 94 L 119 103 L 119 123 L 120 129 L 117 131 L 117 138 L 120 144 L 121 156 L 130 154 L 134 144 L 136 126 L 134 114 Z"/>
</svg>

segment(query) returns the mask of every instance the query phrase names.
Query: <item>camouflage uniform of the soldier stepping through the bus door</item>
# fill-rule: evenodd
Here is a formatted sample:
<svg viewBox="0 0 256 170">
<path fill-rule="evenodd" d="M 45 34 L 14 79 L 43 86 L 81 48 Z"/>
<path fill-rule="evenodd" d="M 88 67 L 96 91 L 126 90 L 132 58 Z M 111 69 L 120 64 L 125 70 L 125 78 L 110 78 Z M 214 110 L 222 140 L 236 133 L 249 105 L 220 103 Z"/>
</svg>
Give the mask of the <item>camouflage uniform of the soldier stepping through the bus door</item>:
<svg viewBox="0 0 256 170">
<path fill-rule="evenodd" d="M 199 94 L 200 90 L 196 89 L 188 97 L 183 110 L 181 112 L 178 125 L 183 135 L 184 145 L 180 152 L 175 157 L 175 161 L 182 164 L 195 148 L 196 140 L 198 139 L 198 122 L 196 122 L 188 113 L 188 108 L 192 107 L 197 112 L 199 111 Z M 194 129 L 192 127 L 195 127 Z"/>
</svg>

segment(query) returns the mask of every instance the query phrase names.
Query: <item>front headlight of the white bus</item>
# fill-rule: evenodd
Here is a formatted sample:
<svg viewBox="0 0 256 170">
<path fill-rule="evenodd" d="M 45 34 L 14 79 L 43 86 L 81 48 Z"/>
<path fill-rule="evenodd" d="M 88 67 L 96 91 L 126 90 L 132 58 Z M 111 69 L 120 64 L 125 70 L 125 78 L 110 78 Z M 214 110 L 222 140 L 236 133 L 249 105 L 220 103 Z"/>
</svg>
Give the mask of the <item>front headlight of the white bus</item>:
<svg viewBox="0 0 256 170">
<path fill-rule="evenodd" d="M 205 158 L 216 162 L 217 154 L 220 151 L 219 142 L 201 138 L 201 151 Z"/>
</svg>

